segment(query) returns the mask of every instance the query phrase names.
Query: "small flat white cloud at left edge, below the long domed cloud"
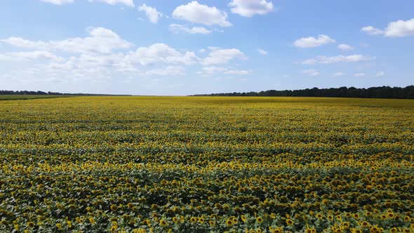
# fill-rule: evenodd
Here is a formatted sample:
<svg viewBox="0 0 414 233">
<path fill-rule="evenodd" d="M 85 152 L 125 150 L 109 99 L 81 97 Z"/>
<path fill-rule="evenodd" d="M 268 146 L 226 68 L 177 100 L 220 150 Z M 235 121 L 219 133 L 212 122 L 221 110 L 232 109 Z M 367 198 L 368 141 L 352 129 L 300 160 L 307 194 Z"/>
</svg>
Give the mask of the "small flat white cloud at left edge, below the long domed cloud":
<svg viewBox="0 0 414 233">
<path fill-rule="evenodd" d="M 30 52 L 14 52 L 14 53 L 0 53 L 0 60 L 3 61 L 14 61 L 14 62 L 26 62 L 30 60 L 55 60 L 62 61 L 63 58 L 60 58 L 48 51 L 30 51 Z"/>
</svg>

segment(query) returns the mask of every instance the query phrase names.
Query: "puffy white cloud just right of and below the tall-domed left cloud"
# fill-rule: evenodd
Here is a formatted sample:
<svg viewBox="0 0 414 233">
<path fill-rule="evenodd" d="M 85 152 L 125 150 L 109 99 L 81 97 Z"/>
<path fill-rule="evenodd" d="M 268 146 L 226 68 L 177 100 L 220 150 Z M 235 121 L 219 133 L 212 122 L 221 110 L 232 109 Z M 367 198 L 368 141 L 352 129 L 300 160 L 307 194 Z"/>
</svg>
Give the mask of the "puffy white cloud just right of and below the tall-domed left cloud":
<svg viewBox="0 0 414 233">
<path fill-rule="evenodd" d="M 192 65 L 198 59 L 194 52 L 182 54 L 166 44 L 153 44 L 149 47 L 140 47 L 136 51 L 126 55 L 128 62 L 142 66 L 153 65 L 156 62 Z"/>
</svg>

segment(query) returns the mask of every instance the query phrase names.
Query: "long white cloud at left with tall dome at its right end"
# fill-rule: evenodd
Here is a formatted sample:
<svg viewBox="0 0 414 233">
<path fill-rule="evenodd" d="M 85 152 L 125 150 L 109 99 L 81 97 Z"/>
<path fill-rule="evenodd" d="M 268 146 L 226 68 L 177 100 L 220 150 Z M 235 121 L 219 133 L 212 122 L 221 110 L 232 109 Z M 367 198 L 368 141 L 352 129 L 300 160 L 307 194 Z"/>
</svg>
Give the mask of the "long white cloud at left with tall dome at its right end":
<svg viewBox="0 0 414 233">
<path fill-rule="evenodd" d="M 117 48 L 130 48 L 131 43 L 119 37 L 118 34 L 103 27 L 93 27 L 88 37 L 71 38 L 62 41 L 29 41 L 20 37 L 2 39 L 1 42 L 22 48 L 35 48 L 41 50 L 56 50 L 69 53 L 111 53 Z"/>
</svg>

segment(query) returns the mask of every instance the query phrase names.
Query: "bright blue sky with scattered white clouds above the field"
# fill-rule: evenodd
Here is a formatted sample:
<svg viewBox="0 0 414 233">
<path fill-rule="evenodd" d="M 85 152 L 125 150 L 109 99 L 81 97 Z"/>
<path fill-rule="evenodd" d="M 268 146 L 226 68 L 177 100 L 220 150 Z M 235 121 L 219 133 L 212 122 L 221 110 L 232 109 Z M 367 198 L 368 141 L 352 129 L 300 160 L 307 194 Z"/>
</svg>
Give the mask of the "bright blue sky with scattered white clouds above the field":
<svg viewBox="0 0 414 233">
<path fill-rule="evenodd" d="M 132 95 L 414 84 L 414 1 L 0 2 L 0 90 Z"/>
</svg>

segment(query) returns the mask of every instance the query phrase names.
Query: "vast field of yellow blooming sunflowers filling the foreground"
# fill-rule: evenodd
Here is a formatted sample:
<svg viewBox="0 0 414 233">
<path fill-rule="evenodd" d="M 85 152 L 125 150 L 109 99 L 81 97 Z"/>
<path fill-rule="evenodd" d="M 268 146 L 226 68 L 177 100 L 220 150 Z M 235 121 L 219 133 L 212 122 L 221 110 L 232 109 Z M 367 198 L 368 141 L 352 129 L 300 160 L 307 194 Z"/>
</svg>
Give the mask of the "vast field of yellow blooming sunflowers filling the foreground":
<svg viewBox="0 0 414 233">
<path fill-rule="evenodd" d="M 0 232 L 414 232 L 414 100 L 0 101 Z"/>
</svg>

